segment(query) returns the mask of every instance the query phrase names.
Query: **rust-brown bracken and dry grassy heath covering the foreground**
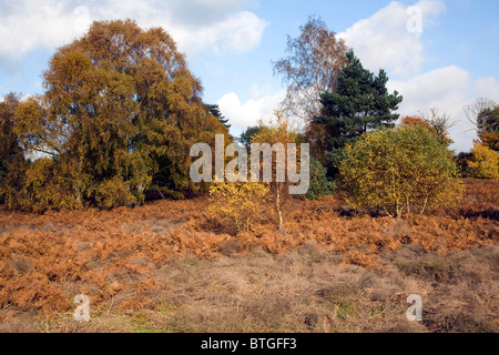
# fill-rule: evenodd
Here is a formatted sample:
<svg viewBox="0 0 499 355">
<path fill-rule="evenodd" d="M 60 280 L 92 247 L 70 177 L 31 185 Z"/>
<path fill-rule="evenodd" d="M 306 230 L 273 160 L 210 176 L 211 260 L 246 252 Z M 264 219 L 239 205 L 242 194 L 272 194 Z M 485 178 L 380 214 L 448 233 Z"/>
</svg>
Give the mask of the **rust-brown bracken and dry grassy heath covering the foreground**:
<svg viewBox="0 0 499 355">
<path fill-rule="evenodd" d="M 400 221 L 293 201 L 284 230 L 237 235 L 206 199 L 0 210 L 0 332 L 498 332 L 498 196 L 497 180 L 468 180 L 456 205 Z"/>
</svg>

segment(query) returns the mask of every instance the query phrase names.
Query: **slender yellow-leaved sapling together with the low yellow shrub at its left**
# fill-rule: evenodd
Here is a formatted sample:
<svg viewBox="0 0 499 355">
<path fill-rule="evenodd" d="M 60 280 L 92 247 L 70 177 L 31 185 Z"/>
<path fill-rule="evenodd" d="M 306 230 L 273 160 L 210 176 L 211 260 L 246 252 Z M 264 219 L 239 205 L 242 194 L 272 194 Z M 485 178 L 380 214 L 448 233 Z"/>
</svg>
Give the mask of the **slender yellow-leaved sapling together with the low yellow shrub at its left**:
<svg viewBox="0 0 499 355">
<path fill-rule="evenodd" d="M 288 199 L 288 186 L 291 185 L 288 176 L 286 176 L 287 144 L 297 143 L 297 141 L 296 130 L 281 112 L 276 112 L 275 121 L 271 121 L 268 124 L 261 123 L 258 132 L 251 136 L 254 151 L 247 152 L 247 163 L 248 168 L 251 166 L 247 170 L 247 182 L 212 184 L 210 189 L 212 216 L 231 225 L 236 231 L 244 231 L 248 230 L 252 222 L 259 215 L 268 213 L 273 215 L 275 212 L 281 229 L 284 222 L 283 204 Z M 298 166 L 301 164 L 299 153 L 297 150 L 296 164 Z M 272 165 L 268 164 L 268 158 L 272 158 Z M 258 172 L 254 171 L 255 165 L 258 166 Z M 266 175 L 271 178 L 269 181 L 264 181 Z"/>
</svg>

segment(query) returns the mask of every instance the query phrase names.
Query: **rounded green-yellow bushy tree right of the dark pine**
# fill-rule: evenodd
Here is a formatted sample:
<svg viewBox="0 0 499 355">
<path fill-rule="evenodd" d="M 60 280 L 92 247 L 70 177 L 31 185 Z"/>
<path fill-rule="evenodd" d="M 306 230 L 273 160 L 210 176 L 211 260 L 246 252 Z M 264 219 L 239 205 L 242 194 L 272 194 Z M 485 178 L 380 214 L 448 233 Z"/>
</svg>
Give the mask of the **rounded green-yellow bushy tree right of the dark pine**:
<svg viewBox="0 0 499 355">
<path fill-rule="evenodd" d="M 353 207 L 387 214 L 446 205 L 462 191 L 450 152 L 428 130 L 401 126 L 364 134 L 340 164 Z"/>
</svg>

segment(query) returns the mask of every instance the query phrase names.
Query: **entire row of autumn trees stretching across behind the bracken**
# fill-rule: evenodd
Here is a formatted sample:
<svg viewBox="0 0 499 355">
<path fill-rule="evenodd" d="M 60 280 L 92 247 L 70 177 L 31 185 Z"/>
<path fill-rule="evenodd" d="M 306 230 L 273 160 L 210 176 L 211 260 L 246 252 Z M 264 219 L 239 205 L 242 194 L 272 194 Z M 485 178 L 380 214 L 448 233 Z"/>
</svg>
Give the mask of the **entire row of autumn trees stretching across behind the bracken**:
<svg viewBox="0 0 499 355">
<path fill-rule="evenodd" d="M 434 109 L 397 125 L 400 118 L 395 112 L 403 97 L 388 92 L 386 72 L 365 69 L 320 19 L 310 17 L 297 38 L 288 37 L 287 57 L 273 64 L 287 85 L 278 121 L 248 128 L 241 144 L 271 138 L 308 142 L 309 199 L 339 186 L 355 197 L 353 205 L 383 207 L 387 213 L 396 206 L 394 214 L 400 214 L 411 206 L 425 210 L 430 195 L 446 200 L 444 192 L 429 187 L 409 191 L 410 174 L 404 170 L 426 171 L 418 185 L 438 189 L 445 183 L 448 191 L 456 191 L 451 186 L 457 168 L 468 175 L 498 176 L 495 103 L 477 103 L 475 111 L 467 111 L 479 141 L 470 154 L 452 158 L 449 118 Z M 58 49 L 43 73 L 43 94 L 21 99 L 10 93 L 0 103 L 0 203 L 11 209 L 130 206 L 208 191 L 210 185 L 190 179 L 190 149 L 197 142 L 213 146 L 216 134 L 233 141 L 228 120 L 216 104 L 203 102 L 201 81 L 161 28 L 143 30 L 131 20 L 93 22 L 83 37 Z M 283 116 L 299 118 L 304 129 L 288 129 Z M 366 164 L 366 159 L 377 163 Z M 422 169 L 431 164 L 440 171 Z M 358 170 L 368 165 L 374 174 Z M 374 180 L 357 179 L 359 174 Z M 381 186 L 379 181 L 385 180 L 378 179 L 374 186 L 379 174 L 389 175 L 391 183 L 386 180 Z M 400 191 L 395 195 L 384 190 L 394 191 L 394 176 Z M 243 200 L 266 192 L 282 201 L 281 189 L 240 190 Z M 234 200 L 236 191 L 228 190 Z M 390 197 L 380 202 L 376 194 Z M 275 205 L 282 224 L 281 202 Z"/>
</svg>

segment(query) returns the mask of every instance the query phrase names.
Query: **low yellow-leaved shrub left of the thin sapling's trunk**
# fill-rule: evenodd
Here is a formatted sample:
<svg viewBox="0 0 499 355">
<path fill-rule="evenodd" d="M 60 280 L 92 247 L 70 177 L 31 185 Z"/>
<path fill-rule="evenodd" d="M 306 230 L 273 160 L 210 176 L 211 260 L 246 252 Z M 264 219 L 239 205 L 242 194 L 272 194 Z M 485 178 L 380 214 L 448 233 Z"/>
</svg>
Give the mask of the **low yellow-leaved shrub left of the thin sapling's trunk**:
<svg viewBox="0 0 499 355">
<path fill-rule="evenodd" d="M 271 200 L 263 183 L 214 183 L 210 189 L 210 214 L 235 232 L 248 231 Z"/>
</svg>

